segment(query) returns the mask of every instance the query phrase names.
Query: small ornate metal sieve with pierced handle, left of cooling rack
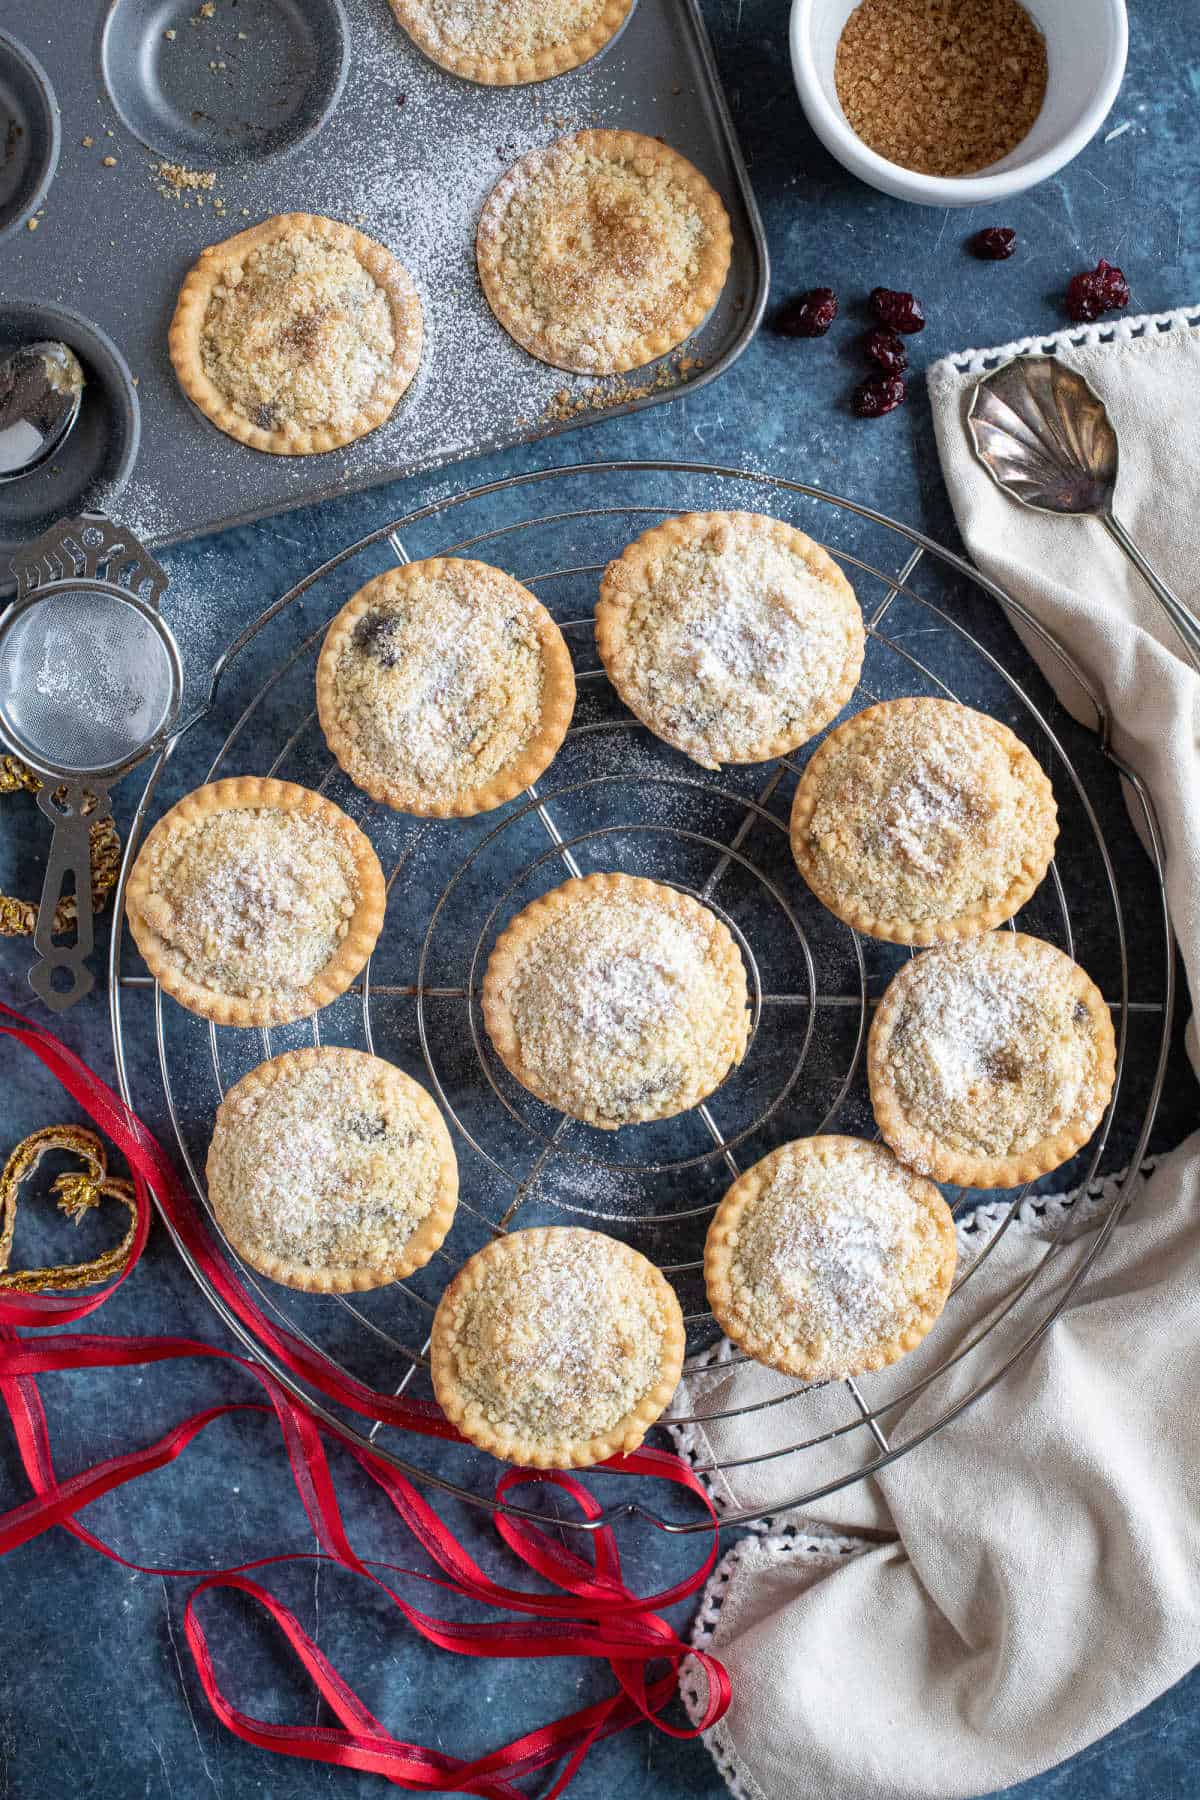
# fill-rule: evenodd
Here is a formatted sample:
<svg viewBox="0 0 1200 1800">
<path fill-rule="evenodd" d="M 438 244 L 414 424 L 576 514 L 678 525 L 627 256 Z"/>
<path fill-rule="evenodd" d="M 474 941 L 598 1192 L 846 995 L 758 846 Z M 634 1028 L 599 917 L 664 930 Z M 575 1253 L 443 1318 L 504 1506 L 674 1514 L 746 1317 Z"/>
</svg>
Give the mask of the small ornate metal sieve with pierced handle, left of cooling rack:
<svg viewBox="0 0 1200 1800">
<path fill-rule="evenodd" d="M 108 788 L 158 749 L 180 709 L 184 671 L 158 614 L 166 572 L 131 531 L 99 515 L 63 520 L 13 558 L 16 599 L 0 617 L 0 740 L 45 785 L 54 824 L 29 983 L 52 1012 L 94 985 L 90 828 Z M 54 938 L 74 889 L 76 932 Z M 63 972 L 63 974 L 59 974 Z"/>
</svg>

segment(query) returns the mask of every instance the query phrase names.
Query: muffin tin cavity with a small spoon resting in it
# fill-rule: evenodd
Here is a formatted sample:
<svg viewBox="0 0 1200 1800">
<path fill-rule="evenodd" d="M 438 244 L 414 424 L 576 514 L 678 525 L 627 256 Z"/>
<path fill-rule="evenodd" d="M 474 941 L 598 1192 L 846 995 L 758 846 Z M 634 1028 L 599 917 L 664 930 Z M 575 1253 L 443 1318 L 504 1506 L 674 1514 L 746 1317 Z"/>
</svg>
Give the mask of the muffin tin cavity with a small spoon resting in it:
<svg viewBox="0 0 1200 1800">
<path fill-rule="evenodd" d="M 74 430 L 49 463 L 0 486 L 0 589 L 7 558 L 56 518 L 106 511 L 121 493 L 140 434 L 130 367 L 99 326 L 68 306 L 0 299 L 0 356 L 18 344 L 59 338 L 83 364 L 83 405 Z"/>
</svg>

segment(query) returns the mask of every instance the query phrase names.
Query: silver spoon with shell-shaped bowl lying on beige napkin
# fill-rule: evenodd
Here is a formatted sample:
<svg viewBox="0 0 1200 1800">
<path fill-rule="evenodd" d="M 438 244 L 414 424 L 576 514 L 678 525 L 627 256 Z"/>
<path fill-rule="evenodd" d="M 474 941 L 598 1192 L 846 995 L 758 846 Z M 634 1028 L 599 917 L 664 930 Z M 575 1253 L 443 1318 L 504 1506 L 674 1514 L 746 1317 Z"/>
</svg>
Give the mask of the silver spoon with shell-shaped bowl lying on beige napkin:
<svg viewBox="0 0 1200 1800">
<path fill-rule="evenodd" d="M 1112 509 L 1117 434 L 1083 376 L 1056 356 L 1015 356 L 975 385 L 966 425 L 979 461 L 1022 506 L 1099 518 L 1200 673 L 1200 619 L 1171 592 Z"/>
</svg>

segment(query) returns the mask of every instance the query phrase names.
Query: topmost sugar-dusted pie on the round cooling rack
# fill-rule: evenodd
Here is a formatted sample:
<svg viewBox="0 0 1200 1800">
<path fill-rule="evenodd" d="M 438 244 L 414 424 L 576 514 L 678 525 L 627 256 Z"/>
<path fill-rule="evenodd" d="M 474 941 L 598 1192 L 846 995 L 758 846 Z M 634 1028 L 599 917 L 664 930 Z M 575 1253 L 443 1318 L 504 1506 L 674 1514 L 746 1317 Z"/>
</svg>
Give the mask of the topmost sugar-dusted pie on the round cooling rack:
<svg viewBox="0 0 1200 1800">
<path fill-rule="evenodd" d="M 608 563 L 608 679 L 702 769 L 761 763 L 842 711 L 862 671 L 855 590 L 820 544 L 761 513 L 685 513 Z"/>
</svg>

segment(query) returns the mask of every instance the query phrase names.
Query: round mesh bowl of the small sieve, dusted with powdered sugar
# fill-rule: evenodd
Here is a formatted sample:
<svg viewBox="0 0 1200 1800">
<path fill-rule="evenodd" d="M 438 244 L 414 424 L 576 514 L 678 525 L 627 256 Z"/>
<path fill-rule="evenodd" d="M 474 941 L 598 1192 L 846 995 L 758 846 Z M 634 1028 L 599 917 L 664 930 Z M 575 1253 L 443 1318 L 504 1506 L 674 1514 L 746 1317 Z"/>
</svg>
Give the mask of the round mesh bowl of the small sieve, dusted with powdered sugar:
<svg viewBox="0 0 1200 1800">
<path fill-rule="evenodd" d="M 0 729 L 52 774 L 119 774 L 176 704 L 164 628 L 121 594 L 54 589 L 0 632 Z"/>
</svg>

